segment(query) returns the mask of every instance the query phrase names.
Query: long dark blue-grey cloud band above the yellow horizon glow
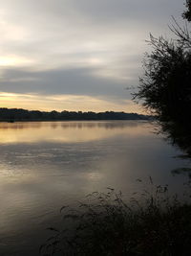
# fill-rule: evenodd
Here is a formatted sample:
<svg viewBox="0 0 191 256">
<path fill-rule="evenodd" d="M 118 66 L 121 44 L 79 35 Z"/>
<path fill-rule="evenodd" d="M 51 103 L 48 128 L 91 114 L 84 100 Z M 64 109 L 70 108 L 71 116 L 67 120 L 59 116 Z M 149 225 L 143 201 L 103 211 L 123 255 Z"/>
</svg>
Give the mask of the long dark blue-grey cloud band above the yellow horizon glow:
<svg viewBox="0 0 191 256">
<path fill-rule="evenodd" d="M 137 81 L 118 81 L 106 78 L 99 68 L 50 69 L 32 71 L 23 68 L 6 69 L 1 76 L 1 90 L 16 93 L 74 94 L 104 96 L 109 98 L 128 99 L 127 84 L 135 85 Z M 133 75 L 132 75 L 133 76 Z"/>
</svg>

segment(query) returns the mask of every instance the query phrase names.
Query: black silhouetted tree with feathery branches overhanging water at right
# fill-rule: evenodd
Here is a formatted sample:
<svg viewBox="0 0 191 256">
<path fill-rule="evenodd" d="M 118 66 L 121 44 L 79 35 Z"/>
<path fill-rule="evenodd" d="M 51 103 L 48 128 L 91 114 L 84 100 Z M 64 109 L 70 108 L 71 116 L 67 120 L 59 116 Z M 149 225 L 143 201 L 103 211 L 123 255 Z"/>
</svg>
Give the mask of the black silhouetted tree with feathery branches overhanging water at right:
<svg viewBox="0 0 191 256">
<path fill-rule="evenodd" d="M 134 99 L 155 113 L 161 130 L 173 144 L 191 156 L 191 1 L 186 1 L 187 19 L 182 28 L 173 18 L 175 39 L 150 35 L 153 48 L 143 60 L 145 70 Z"/>
</svg>

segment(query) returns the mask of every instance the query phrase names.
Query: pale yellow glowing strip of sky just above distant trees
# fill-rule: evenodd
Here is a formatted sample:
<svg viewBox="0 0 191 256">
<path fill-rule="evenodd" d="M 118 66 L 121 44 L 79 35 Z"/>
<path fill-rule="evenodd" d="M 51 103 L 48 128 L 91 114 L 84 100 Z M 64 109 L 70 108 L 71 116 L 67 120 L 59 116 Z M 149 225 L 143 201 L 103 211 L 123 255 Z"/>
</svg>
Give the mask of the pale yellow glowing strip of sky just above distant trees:
<svg viewBox="0 0 191 256">
<path fill-rule="evenodd" d="M 70 110 L 70 111 L 126 111 L 142 113 L 143 109 L 130 100 L 110 101 L 107 97 L 93 97 L 87 95 L 44 95 L 0 93 L 0 107 L 28 108 L 38 110 Z"/>
</svg>

